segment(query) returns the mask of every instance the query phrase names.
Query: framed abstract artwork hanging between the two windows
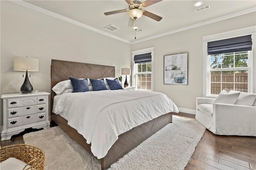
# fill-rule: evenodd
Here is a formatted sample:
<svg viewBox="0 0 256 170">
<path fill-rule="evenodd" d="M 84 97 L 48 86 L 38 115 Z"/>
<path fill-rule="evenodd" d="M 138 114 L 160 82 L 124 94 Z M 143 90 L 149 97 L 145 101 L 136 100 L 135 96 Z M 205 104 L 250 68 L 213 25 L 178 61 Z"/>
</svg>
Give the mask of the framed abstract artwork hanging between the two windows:
<svg viewBox="0 0 256 170">
<path fill-rule="evenodd" d="M 164 84 L 188 85 L 188 52 L 164 55 Z"/>
</svg>

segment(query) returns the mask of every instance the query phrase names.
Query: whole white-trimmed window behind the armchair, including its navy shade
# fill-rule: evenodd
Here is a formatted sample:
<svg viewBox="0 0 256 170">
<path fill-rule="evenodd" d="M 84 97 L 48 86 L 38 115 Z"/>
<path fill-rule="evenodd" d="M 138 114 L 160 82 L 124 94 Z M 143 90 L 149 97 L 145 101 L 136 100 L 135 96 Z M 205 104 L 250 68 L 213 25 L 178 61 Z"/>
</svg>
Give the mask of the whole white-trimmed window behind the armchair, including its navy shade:
<svg viewBox="0 0 256 170">
<path fill-rule="evenodd" d="M 203 97 L 256 92 L 255 38 L 255 27 L 203 37 Z"/>
</svg>

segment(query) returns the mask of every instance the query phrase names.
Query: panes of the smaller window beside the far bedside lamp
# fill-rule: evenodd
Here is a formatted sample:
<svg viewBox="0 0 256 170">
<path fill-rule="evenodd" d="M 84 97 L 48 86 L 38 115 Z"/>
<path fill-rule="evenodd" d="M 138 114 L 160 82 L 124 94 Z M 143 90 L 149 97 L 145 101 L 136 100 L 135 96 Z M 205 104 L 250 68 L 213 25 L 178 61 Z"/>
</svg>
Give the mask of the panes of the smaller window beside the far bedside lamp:
<svg viewBox="0 0 256 170">
<path fill-rule="evenodd" d="M 151 71 L 151 62 L 136 64 L 137 89 L 151 90 Z"/>
</svg>

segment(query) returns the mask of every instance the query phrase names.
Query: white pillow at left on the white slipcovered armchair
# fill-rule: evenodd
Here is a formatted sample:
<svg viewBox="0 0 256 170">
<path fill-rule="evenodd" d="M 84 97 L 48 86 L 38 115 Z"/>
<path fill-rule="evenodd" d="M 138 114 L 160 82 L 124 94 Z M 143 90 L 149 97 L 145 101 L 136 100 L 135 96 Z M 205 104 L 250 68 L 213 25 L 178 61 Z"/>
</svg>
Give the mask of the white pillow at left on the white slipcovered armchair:
<svg viewBox="0 0 256 170">
<path fill-rule="evenodd" d="M 220 92 L 214 103 L 235 104 L 239 95 L 240 92 L 228 93 L 226 92 L 226 90 L 222 90 L 222 92 Z"/>
</svg>

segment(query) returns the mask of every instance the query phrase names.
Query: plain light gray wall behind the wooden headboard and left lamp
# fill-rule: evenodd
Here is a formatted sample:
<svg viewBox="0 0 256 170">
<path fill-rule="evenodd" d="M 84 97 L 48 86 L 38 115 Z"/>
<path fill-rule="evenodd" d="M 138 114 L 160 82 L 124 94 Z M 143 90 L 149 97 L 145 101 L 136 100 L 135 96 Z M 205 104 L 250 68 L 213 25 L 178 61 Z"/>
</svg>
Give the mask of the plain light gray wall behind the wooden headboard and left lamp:
<svg viewBox="0 0 256 170">
<path fill-rule="evenodd" d="M 13 70 L 14 57 L 39 59 L 31 72 L 34 90 L 51 92 L 51 59 L 130 67 L 131 45 L 13 2 L 1 1 L 0 94 L 20 93 L 22 72 Z M 49 107 L 50 108 L 50 107 Z M 2 125 L 1 100 L 1 125 Z"/>
</svg>

